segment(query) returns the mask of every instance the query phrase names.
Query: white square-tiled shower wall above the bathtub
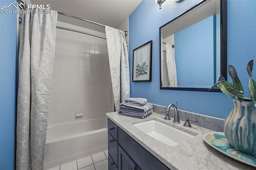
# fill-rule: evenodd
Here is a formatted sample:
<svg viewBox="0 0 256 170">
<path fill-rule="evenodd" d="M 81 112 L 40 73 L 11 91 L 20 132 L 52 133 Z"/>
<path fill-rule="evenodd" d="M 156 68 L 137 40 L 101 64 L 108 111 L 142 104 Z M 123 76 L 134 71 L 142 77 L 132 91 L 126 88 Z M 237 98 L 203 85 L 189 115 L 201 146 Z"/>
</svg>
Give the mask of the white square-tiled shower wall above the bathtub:
<svg viewBox="0 0 256 170">
<path fill-rule="evenodd" d="M 64 22 L 58 21 L 57 25 L 106 36 Z M 84 117 L 76 118 L 75 111 L 84 111 Z M 111 111 L 106 40 L 57 29 L 48 126 L 105 117 Z"/>
</svg>

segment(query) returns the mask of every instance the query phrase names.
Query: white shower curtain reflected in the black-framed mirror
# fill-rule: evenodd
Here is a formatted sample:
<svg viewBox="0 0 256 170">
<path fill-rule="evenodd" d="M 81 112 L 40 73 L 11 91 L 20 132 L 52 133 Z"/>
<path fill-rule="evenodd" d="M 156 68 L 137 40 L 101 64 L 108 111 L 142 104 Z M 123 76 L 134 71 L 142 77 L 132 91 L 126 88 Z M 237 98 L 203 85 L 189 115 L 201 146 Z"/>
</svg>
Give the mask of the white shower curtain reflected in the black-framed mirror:
<svg viewBox="0 0 256 170">
<path fill-rule="evenodd" d="M 178 87 L 177 71 L 172 45 L 166 43 L 166 63 L 169 78 L 169 87 Z"/>
</svg>

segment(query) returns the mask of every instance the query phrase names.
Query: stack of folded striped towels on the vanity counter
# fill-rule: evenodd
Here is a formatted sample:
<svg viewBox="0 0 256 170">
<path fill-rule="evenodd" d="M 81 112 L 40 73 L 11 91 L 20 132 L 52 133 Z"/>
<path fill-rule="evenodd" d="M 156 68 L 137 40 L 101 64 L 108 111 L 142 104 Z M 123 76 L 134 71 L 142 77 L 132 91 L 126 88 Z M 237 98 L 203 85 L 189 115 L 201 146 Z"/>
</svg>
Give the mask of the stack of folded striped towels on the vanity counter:
<svg viewBox="0 0 256 170">
<path fill-rule="evenodd" d="M 118 114 L 144 119 L 152 113 L 153 105 L 145 98 L 131 97 L 120 103 Z"/>
</svg>

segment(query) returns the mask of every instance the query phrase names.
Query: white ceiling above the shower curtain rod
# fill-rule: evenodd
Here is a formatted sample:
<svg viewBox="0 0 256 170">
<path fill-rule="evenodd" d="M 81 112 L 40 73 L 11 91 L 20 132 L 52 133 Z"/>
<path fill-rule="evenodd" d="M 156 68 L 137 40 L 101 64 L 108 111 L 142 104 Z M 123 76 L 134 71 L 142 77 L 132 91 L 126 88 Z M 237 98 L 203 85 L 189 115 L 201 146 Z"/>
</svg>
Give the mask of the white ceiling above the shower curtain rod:
<svg viewBox="0 0 256 170">
<path fill-rule="evenodd" d="M 50 4 L 51 10 L 78 16 L 118 29 L 142 0 L 31 0 L 31 2 L 32 4 L 44 4 L 44 6 Z M 58 21 L 105 32 L 102 26 L 60 14 L 58 15 Z"/>
</svg>

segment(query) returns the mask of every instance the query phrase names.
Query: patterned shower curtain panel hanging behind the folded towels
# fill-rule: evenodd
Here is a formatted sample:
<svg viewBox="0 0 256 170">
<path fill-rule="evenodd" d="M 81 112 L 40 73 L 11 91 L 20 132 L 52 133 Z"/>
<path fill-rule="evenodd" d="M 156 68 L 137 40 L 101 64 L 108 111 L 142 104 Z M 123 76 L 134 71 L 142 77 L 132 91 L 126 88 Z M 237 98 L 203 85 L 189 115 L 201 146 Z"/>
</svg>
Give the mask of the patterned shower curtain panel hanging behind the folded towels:
<svg viewBox="0 0 256 170">
<path fill-rule="evenodd" d="M 130 71 L 125 33 L 109 26 L 106 26 L 105 30 L 114 103 L 116 111 L 119 111 L 119 104 L 130 98 Z"/>
</svg>

